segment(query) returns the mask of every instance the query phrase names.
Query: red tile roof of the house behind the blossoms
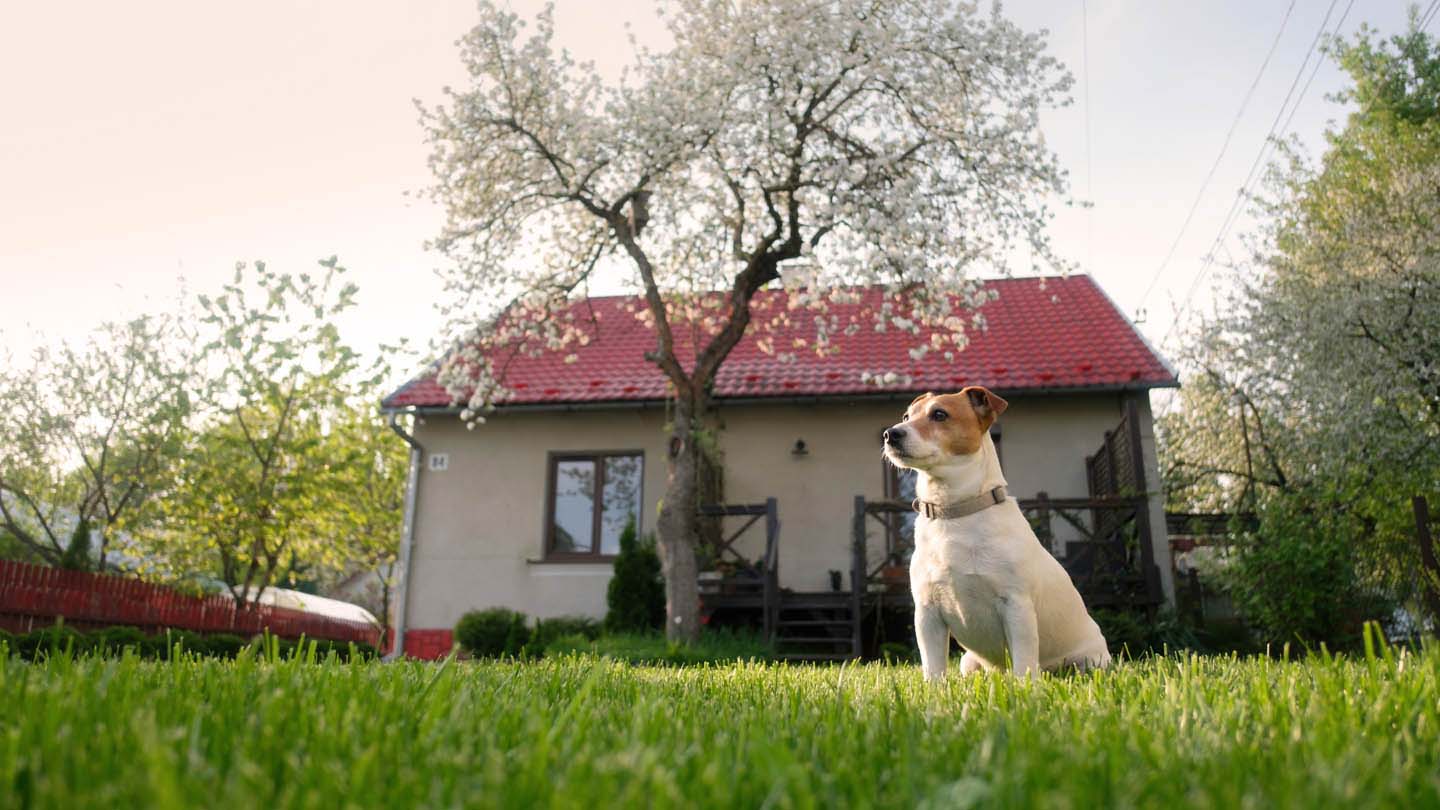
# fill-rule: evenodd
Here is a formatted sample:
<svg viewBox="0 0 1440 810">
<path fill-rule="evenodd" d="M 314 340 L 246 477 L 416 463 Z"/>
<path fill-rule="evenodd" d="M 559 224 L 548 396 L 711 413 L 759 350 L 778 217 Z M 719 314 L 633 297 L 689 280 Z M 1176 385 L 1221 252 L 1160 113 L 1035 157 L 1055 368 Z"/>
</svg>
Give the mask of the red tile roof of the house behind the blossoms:
<svg viewBox="0 0 1440 810">
<path fill-rule="evenodd" d="M 1129 320 L 1089 275 L 1064 278 L 1002 278 L 986 285 L 998 293 L 981 307 L 986 329 L 969 327 L 969 346 L 946 360 L 943 352 L 910 357 L 922 339 L 867 326 L 835 334 L 838 353 L 816 356 L 801 349 L 786 362 L 760 350 L 753 336 L 736 346 L 716 379 L 717 399 L 765 396 L 851 396 L 950 391 L 985 385 L 999 392 L 1145 389 L 1175 386 L 1178 380 Z M 782 290 L 762 291 L 757 306 L 783 306 Z M 874 308 L 881 290 L 868 290 L 858 304 Z M 586 346 L 537 357 L 517 356 L 504 379 L 510 396 L 497 405 L 635 402 L 665 396 L 665 378 L 645 352 L 654 333 L 632 314 L 638 298 L 590 298 L 596 314 Z M 582 304 L 576 304 L 582 306 Z M 841 313 L 847 316 L 848 313 Z M 802 319 L 796 319 L 802 320 Z M 814 337 L 814 327 L 793 324 L 770 331 L 776 346 Z M 566 362 L 566 355 L 575 355 Z M 893 382 L 864 382 L 864 376 L 894 372 Z M 383 402 L 387 409 L 449 406 L 451 396 L 433 373 L 403 385 Z"/>
</svg>

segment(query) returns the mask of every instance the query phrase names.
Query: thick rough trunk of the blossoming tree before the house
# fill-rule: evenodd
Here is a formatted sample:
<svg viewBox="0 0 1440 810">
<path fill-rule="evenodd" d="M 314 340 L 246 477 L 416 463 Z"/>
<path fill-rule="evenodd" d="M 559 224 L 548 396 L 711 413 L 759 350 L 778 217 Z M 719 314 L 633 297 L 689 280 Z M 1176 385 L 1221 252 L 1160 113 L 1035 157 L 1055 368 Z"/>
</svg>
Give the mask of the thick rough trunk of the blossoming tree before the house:
<svg viewBox="0 0 1440 810">
<path fill-rule="evenodd" d="M 696 568 L 696 471 L 698 455 L 694 437 L 694 402 L 675 404 L 671 432 L 670 481 L 660 507 L 660 566 L 665 577 L 665 637 L 694 641 L 700 637 L 700 585 Z"/>
</svg>

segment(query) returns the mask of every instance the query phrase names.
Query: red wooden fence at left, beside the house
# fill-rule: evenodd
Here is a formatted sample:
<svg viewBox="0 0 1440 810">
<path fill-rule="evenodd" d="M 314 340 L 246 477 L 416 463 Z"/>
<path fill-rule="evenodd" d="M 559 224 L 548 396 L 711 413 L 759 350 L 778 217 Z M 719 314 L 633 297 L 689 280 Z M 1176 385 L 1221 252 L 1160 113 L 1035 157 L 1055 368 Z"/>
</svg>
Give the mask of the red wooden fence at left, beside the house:
<svg viewBox="0 0 1440 810">
<path fill-rule="evenodd" d="M 363 621 L 272 605 L 239 610 L 228 594 L 190 597 L 128 577 L 0 559 L 0 628 L 27 633 L 49 627 L 59 617 L 78 630 L 125 624 L 150 633 L 170 627 L 249 637 L 269 630 L 282 638 L 380 641 L 380 628 Z"/>
</svg>

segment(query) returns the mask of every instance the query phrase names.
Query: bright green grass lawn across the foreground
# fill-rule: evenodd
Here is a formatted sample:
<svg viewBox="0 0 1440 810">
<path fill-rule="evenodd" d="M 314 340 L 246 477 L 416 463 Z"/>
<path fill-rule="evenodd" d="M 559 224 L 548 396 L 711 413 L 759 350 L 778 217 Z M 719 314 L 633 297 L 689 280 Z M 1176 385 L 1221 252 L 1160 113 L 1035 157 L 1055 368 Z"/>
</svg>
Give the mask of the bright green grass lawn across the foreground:
<svg viewBox="0 0 1440 810">
<path fill-rule="evenodd" d="M 1440 650 L 917 667 L 0 657 L 0 807 L 1440 807 Z"/>
</svg>

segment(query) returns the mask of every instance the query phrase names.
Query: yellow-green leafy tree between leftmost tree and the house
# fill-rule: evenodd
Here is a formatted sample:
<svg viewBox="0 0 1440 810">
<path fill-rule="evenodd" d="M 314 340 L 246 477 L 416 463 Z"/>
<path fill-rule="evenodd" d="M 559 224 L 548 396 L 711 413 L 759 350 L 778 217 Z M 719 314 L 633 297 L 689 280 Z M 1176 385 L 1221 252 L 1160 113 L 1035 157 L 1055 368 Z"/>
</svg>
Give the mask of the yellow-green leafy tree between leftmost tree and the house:
<svg viewBox="0 0 1440 810">
<path fill-rule="evenodd" d="M 334 431 L 377 379 L 336 326 L 356 288 L 334 258 L 320 264 L 317 275 L 239 264 L 219 295 L 199 297 L 210 382 L 145 542 L 171 575 L 217 569 L 240 602 L 347 553 L 333 532 L 356 451 Z"/>
</svg>

